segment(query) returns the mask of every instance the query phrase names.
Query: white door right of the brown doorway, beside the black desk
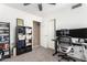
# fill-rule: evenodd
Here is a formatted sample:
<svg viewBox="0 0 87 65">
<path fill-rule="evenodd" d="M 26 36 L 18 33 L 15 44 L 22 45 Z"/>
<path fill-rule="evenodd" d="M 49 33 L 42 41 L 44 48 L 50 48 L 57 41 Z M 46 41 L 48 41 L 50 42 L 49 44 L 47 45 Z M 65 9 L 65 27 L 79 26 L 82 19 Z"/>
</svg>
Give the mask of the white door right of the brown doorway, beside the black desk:
<svg viewBox="0 0 87 65">
<path fill-rule="evenodd" d="M 54 41 L 52 41 L 55 37 L 55 26 L 54 26 L 54 20 L 50 20 L 47 23 L 47 47 L 48 48 L 54 48 Z"/>
</svg>

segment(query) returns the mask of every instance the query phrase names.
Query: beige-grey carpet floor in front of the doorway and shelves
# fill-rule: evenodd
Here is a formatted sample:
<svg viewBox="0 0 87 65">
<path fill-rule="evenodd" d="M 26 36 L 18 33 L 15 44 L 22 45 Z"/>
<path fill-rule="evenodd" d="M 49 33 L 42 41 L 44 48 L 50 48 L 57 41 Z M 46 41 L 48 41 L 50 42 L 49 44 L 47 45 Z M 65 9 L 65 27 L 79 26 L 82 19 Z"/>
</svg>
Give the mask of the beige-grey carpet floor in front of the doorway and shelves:
<svg viewBox="0 0 87 65">
<path fill-rule="evenodd" d="M 2 62 L 58 62 L 57 55 L 53 56 L 54 51 L 44 47 L 35 47 L 32 52 L 6 58 Z"/>
</svg>

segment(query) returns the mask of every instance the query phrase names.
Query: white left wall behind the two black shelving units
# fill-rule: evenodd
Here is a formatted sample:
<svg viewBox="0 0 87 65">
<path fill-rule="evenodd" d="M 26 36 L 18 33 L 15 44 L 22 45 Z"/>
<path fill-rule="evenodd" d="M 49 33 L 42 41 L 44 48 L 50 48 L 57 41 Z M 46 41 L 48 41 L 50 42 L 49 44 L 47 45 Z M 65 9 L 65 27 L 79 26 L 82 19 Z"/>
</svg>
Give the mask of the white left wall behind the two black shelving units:
<svg viewBox="0 0 87 65">
<path fill-rule="evenodd" d="M 25 26 L 33 26 L 33 24 L 32 24 L 33 20 L 39 21 L 39 22 L 42 21 L 42 19 L 40 17 L 35 17 L 35 15 L 26 13 L 24 11 L 20 11 L 18 9 L 10 8 L 6 4 L 0 4 L 0 22 L 10 22 L 11 44 L 14 43 L 14 41 L 15 41 L 17 18 L 23 19 Z"/>
</svg>

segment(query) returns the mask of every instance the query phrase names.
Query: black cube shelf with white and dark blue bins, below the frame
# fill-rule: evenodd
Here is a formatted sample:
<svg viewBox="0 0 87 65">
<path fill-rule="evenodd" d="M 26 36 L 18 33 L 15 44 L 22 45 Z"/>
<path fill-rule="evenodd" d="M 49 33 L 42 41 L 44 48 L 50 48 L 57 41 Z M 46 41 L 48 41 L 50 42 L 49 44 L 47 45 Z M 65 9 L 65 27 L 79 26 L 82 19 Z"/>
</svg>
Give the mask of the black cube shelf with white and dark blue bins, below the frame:
<svg viewBox="0 0 87 65">
<path fill-rule="evenodd" d="M 32 51 L 32 28 L 17 26 L 17 55 Z"/>
</svg>

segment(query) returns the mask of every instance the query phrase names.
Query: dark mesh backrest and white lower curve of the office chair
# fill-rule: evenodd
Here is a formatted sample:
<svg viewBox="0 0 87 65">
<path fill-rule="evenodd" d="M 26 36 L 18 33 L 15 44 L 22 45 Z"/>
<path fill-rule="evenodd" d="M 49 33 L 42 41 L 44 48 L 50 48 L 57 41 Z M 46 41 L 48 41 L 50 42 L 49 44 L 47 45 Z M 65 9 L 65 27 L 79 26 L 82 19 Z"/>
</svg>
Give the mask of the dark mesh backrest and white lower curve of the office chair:
<svg viewBox="0 0 87 65">
<path fill-rule="evenodd" d="M 58 48 L 61 52 L 68 53 L 72 47 L 73 45 L 70 36 L 63 35 L 58 37 Z"/>
</svg>

